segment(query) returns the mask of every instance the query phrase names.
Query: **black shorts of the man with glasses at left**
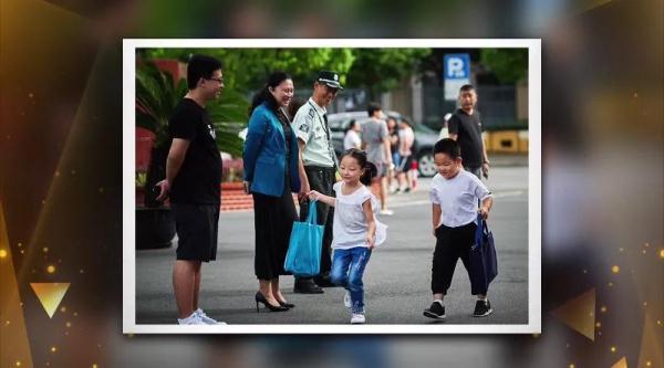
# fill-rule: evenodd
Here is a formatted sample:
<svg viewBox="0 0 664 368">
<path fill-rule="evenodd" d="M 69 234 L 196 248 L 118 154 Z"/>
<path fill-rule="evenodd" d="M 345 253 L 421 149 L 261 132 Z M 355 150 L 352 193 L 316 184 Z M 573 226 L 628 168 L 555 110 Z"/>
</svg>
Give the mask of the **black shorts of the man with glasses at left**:
<svg viewBox="0 0 664 368">
<path fill-rule="evenodd" d="M 179 261 L 209 262 L 217 257 L 219 204 L 172 203 Z"/>
</svg>

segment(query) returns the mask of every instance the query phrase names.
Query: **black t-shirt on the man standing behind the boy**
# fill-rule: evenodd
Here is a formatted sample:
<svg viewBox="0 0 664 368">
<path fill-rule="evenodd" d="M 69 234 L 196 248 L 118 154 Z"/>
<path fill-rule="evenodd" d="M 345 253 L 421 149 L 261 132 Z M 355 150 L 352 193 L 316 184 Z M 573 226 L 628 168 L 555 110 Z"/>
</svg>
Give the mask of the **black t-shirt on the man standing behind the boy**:
<svg viewBox="0 0 664 368">
<path fill-rule="evenodd" d="M 473 111 L 473 115 L 468 115 L 459 108 L 449 118 L 447 127 L 449 134 L 458 135 L 457 141 L 461 147 L 464 167 L 481 167 L 484 157 L 479 112 Z"/>
</svg>

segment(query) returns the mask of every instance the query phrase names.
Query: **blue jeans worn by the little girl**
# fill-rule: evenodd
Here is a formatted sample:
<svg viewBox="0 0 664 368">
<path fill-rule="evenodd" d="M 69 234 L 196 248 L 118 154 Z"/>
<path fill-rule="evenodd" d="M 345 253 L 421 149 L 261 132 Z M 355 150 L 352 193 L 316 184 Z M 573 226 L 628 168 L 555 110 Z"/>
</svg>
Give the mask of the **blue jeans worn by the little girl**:
<svg viewBox="0 0 664 368">
<path fill-rule="evenodd" d="M 330 281 L 351 292 L 353 313 L 364 313 L 364 284 L 362 275 L 371 256 L 371 250 L 365 246 L 335 249 L 332 260 Z"/>
</svg>

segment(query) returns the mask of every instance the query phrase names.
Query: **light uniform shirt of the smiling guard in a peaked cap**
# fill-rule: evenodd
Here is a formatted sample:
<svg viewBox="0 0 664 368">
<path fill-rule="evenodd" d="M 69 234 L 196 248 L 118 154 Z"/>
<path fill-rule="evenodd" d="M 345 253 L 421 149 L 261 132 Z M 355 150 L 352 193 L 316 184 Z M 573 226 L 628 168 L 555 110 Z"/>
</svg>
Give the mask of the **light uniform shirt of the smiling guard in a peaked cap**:
<svg viewBox="0 0 664 368">
<path fill-rule="evenodd" d="M 313 98 L 309 98 L 293 117 L 293 132 L 295 132 L 299 139 L 304 141 L 304 150 L 302 151 L 304 166 L 334 166 L 333 154 L 331 154 L 333 150 L 330 147 L 325 132 L 326 126 L 323 118 L 325 113 L 324 107 L 317 105 Z"/>
</svg>

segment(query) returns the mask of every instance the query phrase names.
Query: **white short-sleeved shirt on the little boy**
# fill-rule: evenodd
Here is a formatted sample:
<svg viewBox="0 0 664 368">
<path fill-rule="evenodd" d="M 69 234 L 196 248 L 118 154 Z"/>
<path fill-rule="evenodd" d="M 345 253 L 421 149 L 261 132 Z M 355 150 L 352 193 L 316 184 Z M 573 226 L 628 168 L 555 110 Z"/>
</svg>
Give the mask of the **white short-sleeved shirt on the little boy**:
<svg viewBox="0 0 664 368">
<path fill-rule="evenodd" d="M 481 180 L 466 170 L 452 179 L 439 174 L 432 179 L 429 199 L 440 206 L 440 223 L 449 228 L 477 222 L 477 200 L 484 201 L 488 197 L 494 196 Z"/>
</svg>

